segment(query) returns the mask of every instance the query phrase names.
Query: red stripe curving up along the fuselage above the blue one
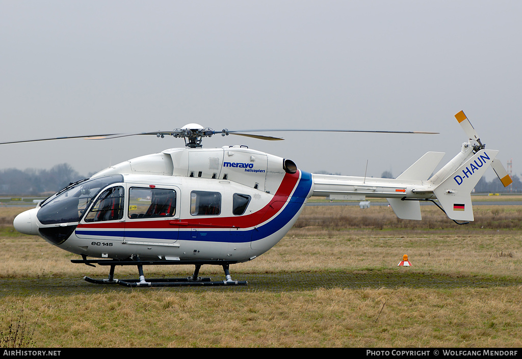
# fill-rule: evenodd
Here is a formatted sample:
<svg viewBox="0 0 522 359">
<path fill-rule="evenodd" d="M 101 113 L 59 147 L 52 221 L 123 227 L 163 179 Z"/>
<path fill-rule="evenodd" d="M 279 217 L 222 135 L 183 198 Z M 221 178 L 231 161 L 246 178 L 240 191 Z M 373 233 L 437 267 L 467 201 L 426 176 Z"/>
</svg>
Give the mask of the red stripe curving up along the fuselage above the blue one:
<svg viewBox="0 0 522 359">
<path fill-rule="evenodd" d="M 174 229 L 174 228 L 250 228 L 258 225 L 261 221 L 267 221 L 275 216 L 284 206 L 295 186 L 298 184 L 300 171 L 290 174 L 285 173 L 279 188 L 270 202 L 262 209 L 238 217 L 193 217 L 181 220 L 161 219 L 150 221 L 129 221 L 117 223 L 85 223 L 79 224 L 77 228 L 105 228 L 105 229 Z M 270 213 L 265 216 L 265 213 Z"/>
</svg>

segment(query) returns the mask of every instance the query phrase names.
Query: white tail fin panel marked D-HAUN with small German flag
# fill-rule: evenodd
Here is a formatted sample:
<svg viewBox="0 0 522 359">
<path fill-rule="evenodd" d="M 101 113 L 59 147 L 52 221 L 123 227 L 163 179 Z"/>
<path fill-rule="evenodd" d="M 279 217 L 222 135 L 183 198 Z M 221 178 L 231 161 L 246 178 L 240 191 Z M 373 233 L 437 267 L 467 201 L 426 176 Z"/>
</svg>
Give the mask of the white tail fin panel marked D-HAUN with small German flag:
<svg viewBox="0 0 522 359">
<path fill-rule="evenodd" d="M 480 150 L 433 190 L 450 219 L 472 221 L 471 190 L 499 151 Z"/>
</svg>

